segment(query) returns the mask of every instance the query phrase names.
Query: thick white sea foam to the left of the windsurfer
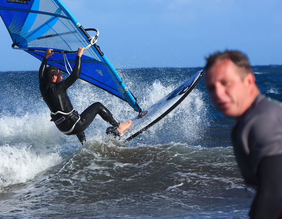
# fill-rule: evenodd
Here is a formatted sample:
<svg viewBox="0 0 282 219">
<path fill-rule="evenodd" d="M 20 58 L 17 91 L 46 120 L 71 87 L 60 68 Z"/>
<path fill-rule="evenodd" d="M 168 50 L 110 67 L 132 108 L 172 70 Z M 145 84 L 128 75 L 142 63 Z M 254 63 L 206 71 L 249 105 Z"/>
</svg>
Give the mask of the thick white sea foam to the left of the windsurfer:
<svg viewBox="0 0 282 219">
<path fill-rule="evenodd" d="M 25 182 L 62 160 L 55 150 L 60 133 L 47 117 L 26 112 L 0 118 L 0 186 Z"/>
</svg>

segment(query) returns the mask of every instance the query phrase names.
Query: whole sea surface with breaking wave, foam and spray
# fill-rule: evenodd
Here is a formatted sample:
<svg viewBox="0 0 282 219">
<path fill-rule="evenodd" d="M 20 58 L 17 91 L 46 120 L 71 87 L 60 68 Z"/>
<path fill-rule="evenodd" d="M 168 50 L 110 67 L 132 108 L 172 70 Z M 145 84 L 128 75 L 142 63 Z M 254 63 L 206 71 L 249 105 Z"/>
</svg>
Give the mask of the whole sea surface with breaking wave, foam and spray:
<svg viewBox="0 0 282 219">
<path fill-rule="evenodd" d="M 146 109 L 201 68 L 119 69 Z M 254 66 L 262 93 L 282 101 L 282 66 Z M 63 75 L 65 78 L 67 75 Z M 120 121 L 136 112 L 93 85 L 68 92 L 82 112 L 102 102 Z M 50 122 L 38 72 L 1 72 L 0 218 L 248 218 L 255 191 L 234 160 L 234 121 L 213 107 L 202 78 L 163 120 L 121 143 L 97 116 L 87 142 Z"/>
</svg>

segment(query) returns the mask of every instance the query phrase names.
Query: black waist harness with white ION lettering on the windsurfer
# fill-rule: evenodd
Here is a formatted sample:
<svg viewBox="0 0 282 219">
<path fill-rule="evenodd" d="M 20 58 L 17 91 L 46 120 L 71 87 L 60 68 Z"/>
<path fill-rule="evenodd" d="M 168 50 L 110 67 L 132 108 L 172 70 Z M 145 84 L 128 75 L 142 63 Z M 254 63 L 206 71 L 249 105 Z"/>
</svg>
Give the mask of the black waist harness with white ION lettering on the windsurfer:
<svg viewBox="0 0 282 219">
<path fill-rule="evenodd" d="M 51 121 L 55 123 L 57 128 L 64 134 L 69 134 L 74 129 L 76 123 L 80 120 L 80 115 L 73 109 L 71 112 L 65 113 L 61 111 L 51 112 Z"/>
</svg>

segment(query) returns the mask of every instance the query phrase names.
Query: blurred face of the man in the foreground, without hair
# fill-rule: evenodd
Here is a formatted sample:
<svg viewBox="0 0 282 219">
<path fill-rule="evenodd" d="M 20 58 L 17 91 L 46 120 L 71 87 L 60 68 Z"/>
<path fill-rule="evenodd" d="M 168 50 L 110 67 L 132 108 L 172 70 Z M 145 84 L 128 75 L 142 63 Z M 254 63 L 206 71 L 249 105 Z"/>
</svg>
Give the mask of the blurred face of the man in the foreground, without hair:
<svg viewBox="0 0 282 219">
<path fill-rule="evenodd" d="M 224 116 L 238 118 L 248 109 L 248 77 L 229 59 L 220 60 L 205 75 L 212 102 Z"/>
</svg>

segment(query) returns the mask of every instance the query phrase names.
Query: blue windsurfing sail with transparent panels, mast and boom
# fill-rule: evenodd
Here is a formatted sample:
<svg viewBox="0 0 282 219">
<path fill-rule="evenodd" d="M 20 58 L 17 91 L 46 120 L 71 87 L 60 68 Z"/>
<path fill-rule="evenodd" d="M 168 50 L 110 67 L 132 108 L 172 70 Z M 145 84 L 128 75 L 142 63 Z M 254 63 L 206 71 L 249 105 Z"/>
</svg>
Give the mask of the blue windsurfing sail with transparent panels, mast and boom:
<svg viewBox="0 0 282 219">
<path fill-rule="evenodd" d="M 41 61 L 45 51 L 52 48 L 55 53 L 47 64 L 64 72 L 74 67 L 77 49 L 89 47 L 81 57 L 80 79 L 128 102 L 135 111 L 142 111 L 116 69 L 96 45 L 99 31 L 84 29 L 60 0 L 0 0 L 0 16 L 12 38 L 13 48 L 23 49 Z M 89 36 L 89 31 L 95 36 Z"/>
</svg>

